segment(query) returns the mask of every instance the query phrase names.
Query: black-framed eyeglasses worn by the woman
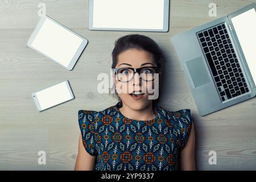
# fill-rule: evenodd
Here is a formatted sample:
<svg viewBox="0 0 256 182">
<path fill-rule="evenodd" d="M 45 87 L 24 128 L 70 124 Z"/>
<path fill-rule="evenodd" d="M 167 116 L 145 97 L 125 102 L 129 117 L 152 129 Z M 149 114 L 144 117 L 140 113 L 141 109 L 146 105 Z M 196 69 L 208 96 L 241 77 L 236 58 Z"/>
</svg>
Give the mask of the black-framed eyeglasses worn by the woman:
<svg viewBox="0 0 256 182">
<path fill-rule="evenodd" d="M 133 79 L 135 73 L 139 73 L 139 76 L 144 81 L 155 80 L 156 73 L 158 73 L 158 67 L 142 67 L 142 68 L 115 68 L 115 75 L 117 75 L 118 81 L 129 82 Z"/>
</svg>

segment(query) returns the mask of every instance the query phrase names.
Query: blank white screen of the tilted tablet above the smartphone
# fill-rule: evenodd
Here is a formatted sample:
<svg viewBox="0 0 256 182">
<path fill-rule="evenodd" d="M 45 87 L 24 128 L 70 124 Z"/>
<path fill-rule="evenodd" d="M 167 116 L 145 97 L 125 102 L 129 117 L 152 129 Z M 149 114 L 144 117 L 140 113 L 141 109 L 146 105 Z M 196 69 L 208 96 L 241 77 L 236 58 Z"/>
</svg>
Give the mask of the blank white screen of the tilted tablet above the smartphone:
<svg viewBox="0 0 256 182">
<path fill-rule="evenodd" d="M 79 36 L 46 18 L 31 47 L 68 67 L 81 43 L 82 39 Z"/>
</svg>

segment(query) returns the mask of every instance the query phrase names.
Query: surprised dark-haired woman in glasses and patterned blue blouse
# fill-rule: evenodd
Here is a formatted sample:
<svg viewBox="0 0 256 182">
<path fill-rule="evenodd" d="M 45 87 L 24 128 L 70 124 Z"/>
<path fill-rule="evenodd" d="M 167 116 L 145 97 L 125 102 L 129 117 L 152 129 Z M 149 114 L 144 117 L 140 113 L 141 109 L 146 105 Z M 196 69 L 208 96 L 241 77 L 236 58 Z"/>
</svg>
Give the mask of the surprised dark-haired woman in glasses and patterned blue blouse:
<svg viewBox="0 0 256 182">
<path fill-rule="evenodd" d="M 126 35 L 112 57 L 119 102 L 99 112 L 79 110 L 75 170 L 194 170 L 191 110 L 168 111 L 149 99 L 161 75 L 159 46 L 147 36 Z"/>
</svg>

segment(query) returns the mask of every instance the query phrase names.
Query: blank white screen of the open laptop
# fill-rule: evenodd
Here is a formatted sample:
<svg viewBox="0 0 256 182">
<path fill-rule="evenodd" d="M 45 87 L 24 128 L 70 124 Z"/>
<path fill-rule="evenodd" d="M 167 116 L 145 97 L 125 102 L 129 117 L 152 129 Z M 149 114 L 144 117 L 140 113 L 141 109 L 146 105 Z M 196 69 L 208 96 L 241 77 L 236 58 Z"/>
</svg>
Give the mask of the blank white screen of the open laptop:
<svg viewBox="0 0 256 182">
<path fill-rule="evenodd" d="M 251 9 L 231 19 L 256 84 L 256 12 Z"/>
</svg>

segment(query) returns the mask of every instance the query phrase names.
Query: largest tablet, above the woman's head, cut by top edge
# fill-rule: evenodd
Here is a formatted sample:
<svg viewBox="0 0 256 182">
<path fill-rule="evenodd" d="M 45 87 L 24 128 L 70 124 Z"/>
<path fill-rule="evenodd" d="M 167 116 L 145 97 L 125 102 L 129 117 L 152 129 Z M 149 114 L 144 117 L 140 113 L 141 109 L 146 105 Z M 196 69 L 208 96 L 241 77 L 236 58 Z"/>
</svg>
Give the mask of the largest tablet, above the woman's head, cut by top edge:
<svg viewBox="0 0 256 182">
<path fill-rule="evenodd" d="M 89 30 L 167 32 L 169 0 L 89 0 Z"/>
</svg>

